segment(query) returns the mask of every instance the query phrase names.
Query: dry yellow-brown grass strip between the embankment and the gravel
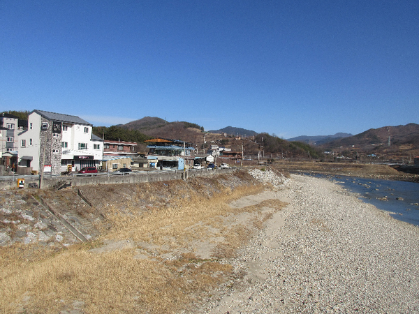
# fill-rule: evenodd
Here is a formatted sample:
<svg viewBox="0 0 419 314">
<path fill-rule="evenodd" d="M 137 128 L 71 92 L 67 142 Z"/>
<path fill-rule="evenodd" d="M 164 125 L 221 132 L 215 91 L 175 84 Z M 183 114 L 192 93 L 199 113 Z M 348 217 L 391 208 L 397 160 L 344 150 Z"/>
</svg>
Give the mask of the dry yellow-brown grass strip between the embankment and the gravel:
<svg viewBox="0 0 419 314">
<path fill-rule="evenodd" d="M 229 258 L 285 205 L 229 207 L 266 189 L 236 175 L 242 184 L 234 187 L 234 176 L 138 186 L 123 206 L 107 203 L 102 236 L 87 244 L 1 248 L 0 312 L 193 312 L 237 276 Z"/>
</svg>

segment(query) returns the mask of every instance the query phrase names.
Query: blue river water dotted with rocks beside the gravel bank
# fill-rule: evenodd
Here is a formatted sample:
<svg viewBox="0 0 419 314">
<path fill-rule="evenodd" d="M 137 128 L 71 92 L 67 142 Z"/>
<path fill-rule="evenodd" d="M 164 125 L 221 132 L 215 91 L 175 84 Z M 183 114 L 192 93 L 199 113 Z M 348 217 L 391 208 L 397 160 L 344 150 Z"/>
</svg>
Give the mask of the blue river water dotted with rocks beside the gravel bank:
<svg viewBox="0 0 419 314">
<path fill-rule="evenodd" d="M 347 190 L 360 194 L 363 202 L 390 211 L 395 219 L 419 226 L 418 183 L 320 174 L 315 177 L 327 177 Z"/>
</svg>

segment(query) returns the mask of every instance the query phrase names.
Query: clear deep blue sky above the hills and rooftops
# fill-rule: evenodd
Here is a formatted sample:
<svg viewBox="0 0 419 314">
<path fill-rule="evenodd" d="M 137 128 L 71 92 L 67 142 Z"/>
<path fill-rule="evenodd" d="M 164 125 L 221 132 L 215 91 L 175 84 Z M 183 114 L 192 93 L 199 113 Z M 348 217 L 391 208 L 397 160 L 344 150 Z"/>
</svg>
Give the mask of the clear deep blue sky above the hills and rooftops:
<svg viewBox="0 0 419 314">
<path fill-rule="evenodd" d="M 419 1 L 0 1 L 0 111 L 289 138 L 419 123 Z"/>
</svg>

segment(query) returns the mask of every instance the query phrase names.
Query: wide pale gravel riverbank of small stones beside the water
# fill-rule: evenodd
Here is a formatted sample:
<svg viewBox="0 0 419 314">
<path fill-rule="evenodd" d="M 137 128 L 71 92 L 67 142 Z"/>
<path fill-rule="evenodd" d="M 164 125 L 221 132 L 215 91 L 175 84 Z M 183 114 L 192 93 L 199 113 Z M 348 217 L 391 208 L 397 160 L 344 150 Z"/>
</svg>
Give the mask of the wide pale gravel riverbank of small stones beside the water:
<svg viewBox="0 0 419 314">
<path fill-rule="evenodd" d="M 292 175 L 274 197 L 288 207 L 200 313 L 419 313 L 418 227 L 326 179 Z"/>
</svg>

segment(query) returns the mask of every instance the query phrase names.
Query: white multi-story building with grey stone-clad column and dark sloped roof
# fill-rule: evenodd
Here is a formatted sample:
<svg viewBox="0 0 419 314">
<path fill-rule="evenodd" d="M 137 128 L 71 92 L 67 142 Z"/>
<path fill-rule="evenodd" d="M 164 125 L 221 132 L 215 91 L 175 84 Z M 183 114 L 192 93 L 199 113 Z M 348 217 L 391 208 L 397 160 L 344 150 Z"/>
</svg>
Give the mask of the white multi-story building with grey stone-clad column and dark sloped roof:
<svg viewBox="0 0 419 314">
<path fill-rule="evenodd" d="M 28 117 L 28 129 L 19 135 L 19 166 L 61 174 L 100 165 L 103 140 L 91 128 L 76 116 L 34 110 Z"/>
</svg>

